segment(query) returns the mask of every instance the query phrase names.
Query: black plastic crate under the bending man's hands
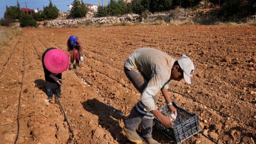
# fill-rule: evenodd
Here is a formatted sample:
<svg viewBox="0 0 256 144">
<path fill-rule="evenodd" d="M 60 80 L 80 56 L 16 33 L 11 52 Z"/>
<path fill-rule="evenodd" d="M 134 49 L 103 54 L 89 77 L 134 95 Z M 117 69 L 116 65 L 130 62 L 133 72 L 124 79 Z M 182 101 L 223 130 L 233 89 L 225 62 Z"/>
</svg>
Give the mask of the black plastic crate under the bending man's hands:
<svg viewBox="0 0 256 144">
<path fill-rule="evenodd" d="M 185 121 L 181 124 L 178 124 L 174 127 L 164 127 L 159 120 L 155 117 L 154 122 L 155 126 L 162 131 L 166 136 L 170 139 L 174 140 L 177 143 L 181 143 L 184 140 L 187 140 L 191 136 L 195 135 L 196 133 L 200 132 L 198 127 L 198 120 L 196 113 L 192 114 L 187 110 L 180 108 L 175 102 L 172 101 L 172 105 L 177 109 L 177 116 L 180 116 Z M 158 108 L 159 111 L 164 116 L 170 116 L 170 110 L 167 108 L 166 105 Z"/>
</svg>

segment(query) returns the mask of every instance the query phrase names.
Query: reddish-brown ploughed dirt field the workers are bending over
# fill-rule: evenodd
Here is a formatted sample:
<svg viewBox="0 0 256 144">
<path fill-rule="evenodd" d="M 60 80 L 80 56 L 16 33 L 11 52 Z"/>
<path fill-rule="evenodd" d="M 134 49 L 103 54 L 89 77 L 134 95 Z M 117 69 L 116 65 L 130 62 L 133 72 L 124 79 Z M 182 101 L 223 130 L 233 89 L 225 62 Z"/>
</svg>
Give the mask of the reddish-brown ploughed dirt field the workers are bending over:
<svg viewBox="0 0 256 144">
<path fill-rule="evenodd" d="M 255 26 L 146 25 L 22 31 L 23 36 L 13 37 L 0 54 L 0 143 L 15 141 L 19 96 L 17 143 L 74 143 L 59 105 L 46 106 L 44 102 L 47 96 L 41 62 L 47 48 L 66 50 L 70 35 L 80 38 L 84 63 L 79 70 L 62 74 L 64 97 L 60 102 L 78 143 L 132 144 L 121 129 L 140 94 L 124 75 L 123 67 L 129 54 L 140 47 L 162 50 L 175 59 L 182 54 L 192 59 L 194 84 L 173 81 L 169 87 L 174 92 L 169 94 L 180 107 L 197 113 L 199 128 L 206 136 L 219 144 L 256 142 Z M 82 77 L 91 86 L 84 84 Z M 158 94 L 157 104 L 162 106 L 165 100 Z M 156 128 L 153 138 L 161 144 L 171 143 Z M 213 144 L 201 133 L 183 142 L 191 143 Z"/>
</svg>

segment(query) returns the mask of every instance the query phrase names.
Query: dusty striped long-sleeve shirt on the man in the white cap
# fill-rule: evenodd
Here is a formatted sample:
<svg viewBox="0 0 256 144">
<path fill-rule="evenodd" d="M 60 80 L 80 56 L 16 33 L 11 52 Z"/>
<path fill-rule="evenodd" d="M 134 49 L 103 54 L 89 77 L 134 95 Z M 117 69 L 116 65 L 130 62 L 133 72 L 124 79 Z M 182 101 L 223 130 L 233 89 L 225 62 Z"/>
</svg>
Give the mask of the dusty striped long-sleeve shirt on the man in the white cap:
<svg viewBox="0 0 256 144">
<path fill-rule="evenodd" d="M 148 79 L 148 84 L 140 95 L 140 101 L 144 111 L 152 111 L 157 108 L 154 96 L 161 89 L 168 89 L 171 82 L 171 69 L 174 64 L 168 54 L 153 48 L 140 48 L 124 62 L 124 66 L 135 72 L 141 73 Z"/>
</svg>

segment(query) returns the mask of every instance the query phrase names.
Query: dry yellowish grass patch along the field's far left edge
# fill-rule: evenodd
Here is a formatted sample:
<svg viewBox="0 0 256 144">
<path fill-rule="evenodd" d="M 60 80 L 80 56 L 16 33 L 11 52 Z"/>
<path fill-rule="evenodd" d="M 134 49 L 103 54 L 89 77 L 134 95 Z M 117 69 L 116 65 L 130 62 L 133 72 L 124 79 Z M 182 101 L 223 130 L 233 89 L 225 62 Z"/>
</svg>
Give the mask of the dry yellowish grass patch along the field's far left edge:
<svg viewBox="0 0 256 144">
<path fill-rule="evenodd" d="M 21 28 L 8 28 L 4 31 L 3 35 L 0 35 L 0 51 L 4 45 L 8 44 L 8 41 L 12 39 L 13 36 L 21 36 Z"/>
</svg>

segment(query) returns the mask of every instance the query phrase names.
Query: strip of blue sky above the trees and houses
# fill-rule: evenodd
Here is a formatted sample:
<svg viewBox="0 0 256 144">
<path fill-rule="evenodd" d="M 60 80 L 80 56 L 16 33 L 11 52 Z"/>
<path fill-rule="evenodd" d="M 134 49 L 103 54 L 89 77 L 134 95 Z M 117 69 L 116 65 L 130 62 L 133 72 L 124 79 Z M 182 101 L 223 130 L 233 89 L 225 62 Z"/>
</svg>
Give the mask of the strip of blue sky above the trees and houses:
<svg viewBox="0 0 256 144">
<path fill-rule="evenodd" d="M 52 3 L 55 4 L 60 11 L 67 12 L 67 10 L 69 9 L 67 5 L 73 3 L 73 1 L 74 0 L 52 0 Z M 83 0 L 83 1 L 84 3 L 98 5 L 98 0 Z M 19 0 L 20 8 L 22 7 L 26 8 L 25 2 L 27 2 L 27 8 L 30 8 L 30 9 L 39 8 L 39 10 L 43 10 L 43 6 L 47 6 L 49 4 L 49 0 Z M 4 17 L 6 4 L 8 7 L 17 6 L 17 0 L 0 0 L 0 18 Z M 101 4 L 102 3 L 100 0 L 100 5 Z M 103 0 L 103 4 L 105 4 L 105 0 Z"/>
</svg>

